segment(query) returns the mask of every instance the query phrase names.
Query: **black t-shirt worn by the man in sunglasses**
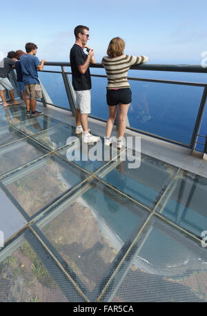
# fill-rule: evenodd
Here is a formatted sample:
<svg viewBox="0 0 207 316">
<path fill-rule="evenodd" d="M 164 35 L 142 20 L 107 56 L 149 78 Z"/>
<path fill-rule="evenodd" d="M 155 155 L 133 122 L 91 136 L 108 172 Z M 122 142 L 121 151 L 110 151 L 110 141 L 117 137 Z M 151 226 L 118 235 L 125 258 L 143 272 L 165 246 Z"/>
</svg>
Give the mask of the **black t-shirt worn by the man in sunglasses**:
<svg viewBox="0 0 207 316">
<path fill-rule="evenodd" d="M 86 70 L 84 74 L 79 72 L 78 66 L 85 63 L 87 56 L 83 52 L 81 46 L 74 44 L 70 50 L 70 67 L 72 70 L 72 86 L 74 90 L 90 90 L 91 89 L 91 79 L 90 70 Z"/>
</svg>

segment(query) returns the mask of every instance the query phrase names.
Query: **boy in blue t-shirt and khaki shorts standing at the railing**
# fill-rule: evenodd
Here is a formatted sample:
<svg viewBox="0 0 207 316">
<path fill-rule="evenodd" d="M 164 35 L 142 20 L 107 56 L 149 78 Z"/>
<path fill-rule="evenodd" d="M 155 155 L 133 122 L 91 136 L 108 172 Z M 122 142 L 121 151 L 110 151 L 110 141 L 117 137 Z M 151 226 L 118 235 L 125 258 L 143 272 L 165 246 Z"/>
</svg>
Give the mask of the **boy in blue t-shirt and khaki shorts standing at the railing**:
<svg viewBox="0 0 207 316">
<path fill-rule="evenodd" d="M 37 99 L 42 97 L 37 70 L 43 70 L 46 59 L 43 59 L 40 62 L 39 59 L 35 56 L 37 54 L 37 45 L 35 45 L 34 43 L 26 43 L 25 48 L 27 54 L 20 57 L 20 65 L 23 83 L 25 84 L 26 88 L 26 98 L 30 100 L 30 103 L 27 103 L 26 115 L 42 115 L 43 112 L 39 112 L 36 110 Z"/>
</svg>

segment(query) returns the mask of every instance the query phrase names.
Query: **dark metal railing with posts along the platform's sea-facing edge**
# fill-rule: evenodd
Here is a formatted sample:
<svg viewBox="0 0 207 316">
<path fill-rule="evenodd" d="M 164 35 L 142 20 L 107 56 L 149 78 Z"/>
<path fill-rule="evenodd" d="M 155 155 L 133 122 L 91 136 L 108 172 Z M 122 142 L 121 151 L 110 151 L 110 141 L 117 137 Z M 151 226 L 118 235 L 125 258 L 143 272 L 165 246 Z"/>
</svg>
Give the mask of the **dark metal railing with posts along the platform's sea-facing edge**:
<svg viewBox="0 0 207 316">
<path fill-rule="evenodd" d="M 53 70 L 43 70 L 43 72 L 54 72 L 54 73 L 61 73 L 63 76 L 63 82 L 65 84 L 66 88 L 66 93 L 68 96 L 68 101 L 70 104 L 70 109 L 72 110 L 72 113 L 74 115 L 74 108 L 75 104 L 71 102 L 72 99 L 72 89 L 71 86 L 66 82 L 66 75 L 71 75 L 71 72 L 67 72 L 65 67 L 70 67 L 69 62 L 59 62 L 59 61 L 47 61 L 45 63 L 46 66 L 60 66 L 61 71 L 53 71 Z M 103 68 L 101 63 L 96 63 L 96 64 L 90 64 L 90 68 Z M 154 71 L 165 71 L 165 72 L 194 72 L 194 73 L 207 73 L 207 68 L 204 68 L 199 65 L 187 65 L 187 64 L 181 64 L 181 65 L 164 65 L 164 64 L 150 64 L 150 63 L 143 63 L 139 65 L 135 65 L 130 67 L 130 70 L 154 70 Z M 95 75 L 91 74 L 92 77 L 107 77 L 106 75 Z M 148 82 L 156 82 L 156 83 L 169 83 L 169 84 L 177 84 L 177 85 L 184 85 L 184 86 L 200 86 L 204 88 L 203 95 L 201 97 L 201 103 L 199 106 L 199 111 L 197 114 L 197 119 L 195 122 L 194 130 L 193 130 L 193 135 L 190 140 L 190 144 L 183 144 L 178 141 L 174 141 L 172 139 L 166 139 L 165 137 L 161 137 L 159 135 L 153 135 L 150 132 L 145 132 L 143 130 L 138 130 L 137 128 L 131 128 L 128 127 L 130 130 L 134 130 L 137 132 L 140 132 L 143 135 L 148 135 L 150 137 L 155 137 L 157 139 L 161 139 L 164 141 L 168 141 L 171 144 L 177 144 L 179 146 L 184 146 L 186 148 L 190 148 L 190 154 L 193 152 L 195 149 L 195 144 L 197 144 L 197 135 L 199 132 L 199 128 L 201 126 L 201 120 L 202 116 L 204 114 L 204 108 L 206 104 L 206 99 L 207 99 L 207 83 L 203 82 L 192 82 L 192 81 L 177 81 L 177 80 L 163 80 L 163 79 L 146 79 L 146 78 L 135 78 L 135 77 L 128 77 L 129 80 L 134 80 L 134 81 L 148 81 Z M 72 104 L 71 104 L 72 103 Z M 55 106 L 54 104 L 51 104 Z M 60 108 L 60 107 L 59 107 Z M 65 110 L 67 110 L 65 108 Z M 99 119 L 99 118 L 97 118 Z"/>
</svg>

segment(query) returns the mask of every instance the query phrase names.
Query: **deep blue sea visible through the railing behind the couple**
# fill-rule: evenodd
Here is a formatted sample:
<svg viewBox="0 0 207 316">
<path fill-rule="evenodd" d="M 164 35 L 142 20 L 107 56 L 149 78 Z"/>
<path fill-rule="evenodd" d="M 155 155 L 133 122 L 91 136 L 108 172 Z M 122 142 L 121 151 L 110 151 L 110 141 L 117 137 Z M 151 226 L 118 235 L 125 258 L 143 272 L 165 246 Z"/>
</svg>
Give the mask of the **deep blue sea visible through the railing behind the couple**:
<svg viewBox="0 0 207 316">
<path fill-rule="evenodd" d="M 68 70 L 70 71 L 69 68 Z M 106 75 L 104 69 L 91 69 L 90 72 L 91 74 Z M 146 70 L 129 70 L 128 77 L 199 83 L 207 81 L 206 74 Z M 41 72 L 39 78 L 54 104 L 70 108 L 61 74 Z M 129 82 L 132 90 L 132 103 L 128 111 L 128 124 L 132 128 L 189 145 L 204 88 L 146 81 L 130 80 Z M 101 119 L 108 119 L 106 85 L 106 78 L 92 77 L 91 115 Z M 206 121 L 207 112 L 205 110 L 199 132 L 201 135 L 207 134 Z M 204 142 L 201 137 L 198 140 Z M 197 145 L 197 148 L 203 150 L 204 146 Z"/>
</svg>

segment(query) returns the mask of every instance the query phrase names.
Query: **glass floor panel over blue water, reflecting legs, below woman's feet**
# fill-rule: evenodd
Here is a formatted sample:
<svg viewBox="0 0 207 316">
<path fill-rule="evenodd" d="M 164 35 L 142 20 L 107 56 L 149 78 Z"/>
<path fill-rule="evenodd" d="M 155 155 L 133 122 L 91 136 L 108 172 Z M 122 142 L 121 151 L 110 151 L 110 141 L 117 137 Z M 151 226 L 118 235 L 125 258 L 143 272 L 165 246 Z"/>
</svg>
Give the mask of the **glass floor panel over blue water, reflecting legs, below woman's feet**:
<svg viewBox="0 0 207 316">
<path fill-rule="evenodd" d="M 138 154 L 135 157 L 138 157 Z M 129 168 L 130 164 L 132 161 L 129 161 L 126 155 L 126 160 L 119 160 L 119 164 L 112 170 L 109 169 L 109 172 L 107 172 L 107 166 L 106 175 L 103 176 L 104 170 L 101 170 L 100 177 L 141 204 L 153 209 L 178 168 L 146 155 L 141 155 L 140 166 L 137 162 L 133 163 L 137 164 L 138 168 Z"/>
</svg>

